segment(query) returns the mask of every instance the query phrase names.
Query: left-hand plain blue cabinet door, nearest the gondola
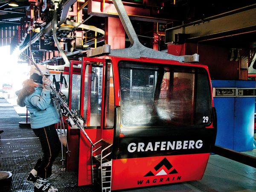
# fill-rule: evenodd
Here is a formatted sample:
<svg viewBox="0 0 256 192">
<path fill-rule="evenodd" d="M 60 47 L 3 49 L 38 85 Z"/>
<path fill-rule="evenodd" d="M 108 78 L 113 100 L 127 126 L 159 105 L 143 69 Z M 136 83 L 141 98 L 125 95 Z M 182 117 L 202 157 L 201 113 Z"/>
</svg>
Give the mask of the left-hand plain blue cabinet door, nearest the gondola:
<svg viewBox="0 0 256 192">
<path fill-rule="evenodd" d="M 233 149 L 234 142 L 234 97 L 215 97 L 217 113 L 217 137 L 215 145 Z"/>
</svg>

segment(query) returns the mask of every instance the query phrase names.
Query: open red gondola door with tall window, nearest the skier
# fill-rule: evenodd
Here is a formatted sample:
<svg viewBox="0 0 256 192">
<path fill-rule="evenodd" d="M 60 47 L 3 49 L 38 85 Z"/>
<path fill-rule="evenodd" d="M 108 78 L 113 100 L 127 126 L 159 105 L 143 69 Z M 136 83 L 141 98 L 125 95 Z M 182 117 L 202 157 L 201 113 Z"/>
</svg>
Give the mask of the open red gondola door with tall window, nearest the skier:
<svg viewBox="0 0 256 192">
<path fill-rule="evenodd" d="M 105 59 L 83 58 L 81 75 L 81 116 L 84 130 L 93 143 L 100 140 L 104 122 Z M 91 145 L 80 133 L 78 185 L 92 184 Z"/>
</svg>

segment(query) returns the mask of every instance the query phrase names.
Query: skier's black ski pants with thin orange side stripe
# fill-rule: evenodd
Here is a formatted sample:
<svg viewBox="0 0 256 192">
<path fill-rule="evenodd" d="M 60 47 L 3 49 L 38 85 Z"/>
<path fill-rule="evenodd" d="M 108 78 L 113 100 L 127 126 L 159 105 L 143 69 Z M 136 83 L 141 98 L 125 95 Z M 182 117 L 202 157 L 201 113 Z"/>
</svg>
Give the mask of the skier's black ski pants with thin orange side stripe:
<svg viewBox="0 0 256 192">
<path fill-rule="evenodd" d="M 58 157 L 61 149 L 61 143 L 58 134 L 53 125 L 43 128 L 32 129 L 37 137 L 39 137 L 43 157 L 38 159 L 34 169 L 38 172 L 38 177 L 44 179 L 52 175 L 52 163 Z"/>
</svg>

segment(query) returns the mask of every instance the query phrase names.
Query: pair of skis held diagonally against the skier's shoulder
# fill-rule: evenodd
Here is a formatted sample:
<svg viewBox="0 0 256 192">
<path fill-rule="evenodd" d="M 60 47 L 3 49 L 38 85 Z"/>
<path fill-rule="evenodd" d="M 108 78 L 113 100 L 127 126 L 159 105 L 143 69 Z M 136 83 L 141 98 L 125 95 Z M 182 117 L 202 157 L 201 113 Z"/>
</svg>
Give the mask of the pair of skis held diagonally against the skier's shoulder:
<svg viewBox="0 0 256 192">
<path fill-rule="evenodd" d="M 44 74 L 41 72 L 40 68 L 37 66 L 37 64 L 28 56 L 25 55 L 24 53 L 21 53 L 21 55 L 25 56 L 27 59 L 29 59 L 29 61 L 31 61 L 31 63 L 33 65 L 35 65 L 35 67 L 37 68 L 37 70 L 39 71 L 39 73 L 41 74 L 41 76 L 44 76 Z M 84 134 L 84 136 L 87 138 L 87 140 L 90 142 L 91 145 L 93 145 L 92 140 L 90 139 L 90 137 L 87 135 L 87 133 L 84 131 L 84 127 L 81 125 L 81 123 L 78 120 L 78 117 L 76 115 L 73 114 L 73 112 L 70 110 L 70 108 L 68 107 L 67 103 L 62 99 L 62 97 L 59 95 L 59 93 L 52 87 L 52 85 L 50 85 L 52 92 L 54 93 L 54 95 L 56 96 L 56 98 L 58 99 L 58 102 L 60 102 L 61 106 L 65 109 L 65 111 L 67 111 L 67 116 L 69 118 L 71 118 L 74 123 L 76 124 L 76 126 L 82 131 L 82 133 Z M 94 145 L 93 145 L 94 146 Z M 94 146 L 95 147 L 95 146 Z"/>
</svg>

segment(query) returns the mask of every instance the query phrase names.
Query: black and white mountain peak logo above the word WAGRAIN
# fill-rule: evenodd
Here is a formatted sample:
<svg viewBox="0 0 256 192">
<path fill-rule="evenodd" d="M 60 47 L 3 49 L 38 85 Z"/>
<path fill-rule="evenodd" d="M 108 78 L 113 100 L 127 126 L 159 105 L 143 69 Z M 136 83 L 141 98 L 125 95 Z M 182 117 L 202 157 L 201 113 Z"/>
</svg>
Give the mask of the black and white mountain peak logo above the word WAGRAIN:
<svg viewBox="0 0 256 192">
<path fill-rule="evenodd" d="M 148 172 L 144 177 L 148 176 L 158 176 L 158 175 L 171 175 L 178 173 L 176 169 L 173 168 L 172 164 L 166 159 L 166 157 L 163 158 L 163 160 L 160 161 L 155 167 L 154 170 Z"/>
</svg>

